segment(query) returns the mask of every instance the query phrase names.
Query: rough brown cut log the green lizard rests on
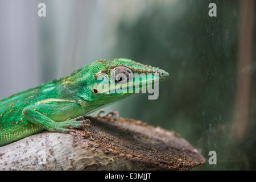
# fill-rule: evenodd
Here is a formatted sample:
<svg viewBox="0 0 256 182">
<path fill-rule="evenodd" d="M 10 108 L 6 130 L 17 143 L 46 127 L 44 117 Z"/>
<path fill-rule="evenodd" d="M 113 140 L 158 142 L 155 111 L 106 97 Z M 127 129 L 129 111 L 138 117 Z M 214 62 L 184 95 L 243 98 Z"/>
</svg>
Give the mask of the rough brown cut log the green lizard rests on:
<svg viewBox="0 0 256 182">
<path fill-rule="evenodd" d="M 189 170 L 205 162 L 174 131 L 134 119 L 87 117 L 76 133 L 45 131 L 0 147 L 1 170 Z"/>
</svg>

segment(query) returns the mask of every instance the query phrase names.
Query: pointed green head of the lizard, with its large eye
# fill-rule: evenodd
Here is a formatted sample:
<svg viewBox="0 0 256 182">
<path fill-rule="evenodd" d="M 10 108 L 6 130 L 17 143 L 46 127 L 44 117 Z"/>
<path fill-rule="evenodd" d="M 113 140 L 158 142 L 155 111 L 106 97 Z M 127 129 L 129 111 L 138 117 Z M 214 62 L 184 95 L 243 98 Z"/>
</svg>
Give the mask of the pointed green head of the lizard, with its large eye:
<svg viewBox="0 0 256 182">
<path fill-rule="evenodd" d="M 133 93 L 146 93 L 169 75 L 129 59 L 98 60 L 84 68 L 86 90 L 82 97 L 91 105 L 106 106 Z"/>
</svg>

